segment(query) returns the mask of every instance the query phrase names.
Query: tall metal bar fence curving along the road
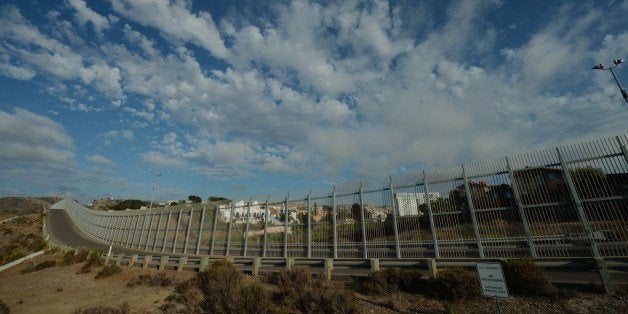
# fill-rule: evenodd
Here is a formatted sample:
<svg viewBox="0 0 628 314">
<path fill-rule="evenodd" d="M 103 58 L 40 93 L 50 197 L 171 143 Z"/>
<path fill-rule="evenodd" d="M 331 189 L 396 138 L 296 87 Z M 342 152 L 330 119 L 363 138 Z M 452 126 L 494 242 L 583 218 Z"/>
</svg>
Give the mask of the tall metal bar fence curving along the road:
<svg viewBox="0 0 628 314">
<path fill-rule="evenodd" d="M 628 255 L 628 138 L 290 194 L 133 211 L 64 200 L 93 237 L 156 252 L 316 258 Z"/>
</svg>

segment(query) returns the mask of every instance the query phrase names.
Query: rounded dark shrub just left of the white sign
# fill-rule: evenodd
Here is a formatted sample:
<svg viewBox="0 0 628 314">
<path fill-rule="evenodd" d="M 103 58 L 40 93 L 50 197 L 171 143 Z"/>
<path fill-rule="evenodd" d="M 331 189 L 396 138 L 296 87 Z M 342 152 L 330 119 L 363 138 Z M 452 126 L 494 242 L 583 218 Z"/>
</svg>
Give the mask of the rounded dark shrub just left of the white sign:
<svg viewBox="0 0 628 314">
<path fill-rule="evenodd" d="M 462 267 L 445 268 L 428 282 L 428 295 L 441 300 L 458 301 L 482 295 L 476 274 Z"/>
</svg>

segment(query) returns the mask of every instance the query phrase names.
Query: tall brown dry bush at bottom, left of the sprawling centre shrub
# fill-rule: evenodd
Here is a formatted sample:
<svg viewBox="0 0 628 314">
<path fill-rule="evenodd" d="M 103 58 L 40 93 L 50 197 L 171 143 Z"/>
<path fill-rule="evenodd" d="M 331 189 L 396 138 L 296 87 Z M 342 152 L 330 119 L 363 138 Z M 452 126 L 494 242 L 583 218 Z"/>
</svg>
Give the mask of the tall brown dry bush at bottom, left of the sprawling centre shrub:
<svg viewBox="0 0 628 314">
<path fill-rule="evenodd" d="M 210 313 L 268 313 L 270 293 L 258 284 L 244 285 L 242 273 L 227 260 L 212 263 L 199 273 L 201 308 Z"/>
</svg>

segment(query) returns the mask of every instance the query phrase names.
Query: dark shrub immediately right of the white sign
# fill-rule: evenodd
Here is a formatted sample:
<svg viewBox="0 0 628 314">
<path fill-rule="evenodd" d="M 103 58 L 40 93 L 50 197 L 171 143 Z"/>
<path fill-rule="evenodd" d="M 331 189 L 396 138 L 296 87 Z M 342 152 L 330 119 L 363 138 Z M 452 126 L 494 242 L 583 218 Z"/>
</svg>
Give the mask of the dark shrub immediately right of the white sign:
<svg viewBox="0 0 628 314">
<path fill-rule="evenodd" d="M 508 290 L 519 295 L 549 295 L 556 289 L 543 268 L 531 259 L 509 259 L 502 262 Z"/>
</svg>

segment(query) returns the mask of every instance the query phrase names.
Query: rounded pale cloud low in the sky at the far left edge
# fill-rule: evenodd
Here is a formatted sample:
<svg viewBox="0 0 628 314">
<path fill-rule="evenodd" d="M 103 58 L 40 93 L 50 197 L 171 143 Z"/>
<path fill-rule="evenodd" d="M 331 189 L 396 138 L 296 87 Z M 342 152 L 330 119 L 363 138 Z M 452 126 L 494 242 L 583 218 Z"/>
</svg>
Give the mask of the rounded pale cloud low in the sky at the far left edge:
<svg viewBox="0 0 628 314">
<path fill-rule="evenodd" d="M 59 123 L 21 108 L 0 111 L 0 160 L 69 164 L 73 158 L 72 138 Z"/>
</svg>

